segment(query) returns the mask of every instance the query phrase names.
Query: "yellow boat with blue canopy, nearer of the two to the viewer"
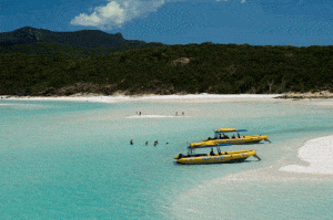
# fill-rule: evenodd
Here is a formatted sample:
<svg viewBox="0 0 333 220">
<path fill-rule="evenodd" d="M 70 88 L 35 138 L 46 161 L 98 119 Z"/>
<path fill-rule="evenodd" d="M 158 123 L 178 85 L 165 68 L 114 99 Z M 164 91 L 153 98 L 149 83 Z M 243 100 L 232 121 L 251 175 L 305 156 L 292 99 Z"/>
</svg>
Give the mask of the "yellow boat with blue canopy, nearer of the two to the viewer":
<svg viewBox="0 0 333 220">
<path fill-rule="evenodd" d="M 222 144 L 228 145 L 228 144 Z M 219 145 L 221 146 L 221 145 Z M 203 147 L 213 147 L 213 146 L 203 146 Z M 202 147 L 199 147 L 202 148 Z M 218 164 L 218 163 L 241 163 L 253 156 L 261 160 L 259 156 L 256 156 L 255 150 L 246 149 L 246 150 L 234 150 L 234 151 L 220 151 L 218 148 L 218 153 L 213 153 L 213 148 L 210 154 L 192 154 L 193 148 L 189 147 L 188 155 L 180 154 L 175 156 L 178 164 L 182 165 L 203 165 L 203 164 Z"/>
</svg>

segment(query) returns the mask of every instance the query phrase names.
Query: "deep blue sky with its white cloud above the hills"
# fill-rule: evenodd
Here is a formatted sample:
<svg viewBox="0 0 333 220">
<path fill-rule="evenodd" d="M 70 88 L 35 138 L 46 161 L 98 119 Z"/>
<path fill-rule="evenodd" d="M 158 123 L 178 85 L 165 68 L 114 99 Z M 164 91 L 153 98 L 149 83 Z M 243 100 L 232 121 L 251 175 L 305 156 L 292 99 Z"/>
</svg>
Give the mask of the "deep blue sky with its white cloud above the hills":
<svg viewBox="0 0 333 220">
<path fill-rule="evenodd" d="M 165 44 L 333 44 L 332 0 L 0 0 L 0 32 L 121 32 Z"/>
</svg>

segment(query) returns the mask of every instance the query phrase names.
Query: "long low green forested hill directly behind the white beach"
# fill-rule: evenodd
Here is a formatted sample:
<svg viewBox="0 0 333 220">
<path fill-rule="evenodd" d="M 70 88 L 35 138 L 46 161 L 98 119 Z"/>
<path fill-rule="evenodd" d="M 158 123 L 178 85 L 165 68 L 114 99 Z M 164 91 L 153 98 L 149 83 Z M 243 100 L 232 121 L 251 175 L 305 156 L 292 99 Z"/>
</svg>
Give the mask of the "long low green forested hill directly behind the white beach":
<svg viewBox="0 0 333 220">
<path fill-rule="evenodd" d="M 62 51 L 60 45 L 54 50 Z M 3 49 L 2 49 L 3 50 Z M 333 90 L 333 46 L 160 45 L 89 56 L 0 52 L 0 94 L 239 94 Z"/>
</svg>

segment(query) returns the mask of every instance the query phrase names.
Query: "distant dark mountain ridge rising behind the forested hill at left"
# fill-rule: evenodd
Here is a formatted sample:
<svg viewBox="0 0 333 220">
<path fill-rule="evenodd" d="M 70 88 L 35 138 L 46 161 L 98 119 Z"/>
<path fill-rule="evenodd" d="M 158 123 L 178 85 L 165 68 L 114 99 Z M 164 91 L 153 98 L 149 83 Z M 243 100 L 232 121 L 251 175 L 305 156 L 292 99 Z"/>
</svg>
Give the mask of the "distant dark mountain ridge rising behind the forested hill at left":
<svg viewBox="0 0 333 220">
<path fill-rule="evenodd" d="M 3 53 L 54 54 L 87 56 L 141 46 L 160 46 L 162 43 L 125 40 L 121 33 L 110 34 L 99 30 L 53 32 L 24 27 L 0 33 L 0 48 Z"/>
</svg>

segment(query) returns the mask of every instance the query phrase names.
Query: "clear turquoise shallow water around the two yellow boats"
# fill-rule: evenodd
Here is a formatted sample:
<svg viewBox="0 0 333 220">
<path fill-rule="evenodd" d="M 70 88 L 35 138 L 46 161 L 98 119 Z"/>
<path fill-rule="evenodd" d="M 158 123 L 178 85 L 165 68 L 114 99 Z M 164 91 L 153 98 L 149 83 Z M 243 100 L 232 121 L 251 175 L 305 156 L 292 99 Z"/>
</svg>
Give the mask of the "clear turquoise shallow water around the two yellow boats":
<svg viewBox="0 0 333 220">
<path fill-rule="evenodd" d="M 299 149 L 333 135 L 330 101 L 1 99 L 0 124 L 0 219 L 333 219 L 332 166 L 285 168 L 309 166 Z M 261 161 L 175 164 L 222 127 L 272 143 L 223 148 Z"/>
</svg>

